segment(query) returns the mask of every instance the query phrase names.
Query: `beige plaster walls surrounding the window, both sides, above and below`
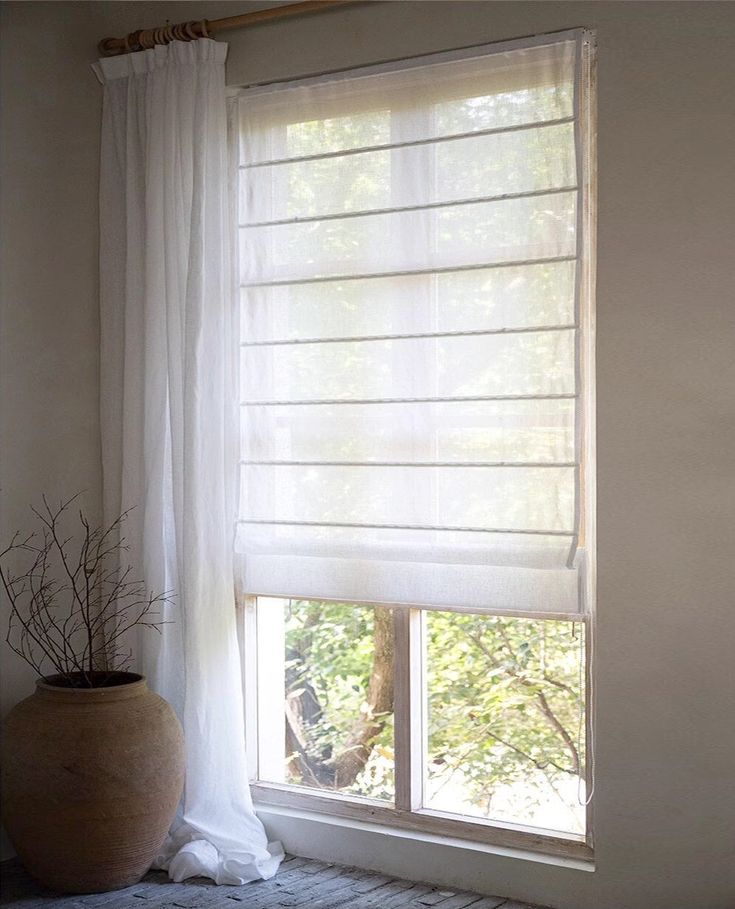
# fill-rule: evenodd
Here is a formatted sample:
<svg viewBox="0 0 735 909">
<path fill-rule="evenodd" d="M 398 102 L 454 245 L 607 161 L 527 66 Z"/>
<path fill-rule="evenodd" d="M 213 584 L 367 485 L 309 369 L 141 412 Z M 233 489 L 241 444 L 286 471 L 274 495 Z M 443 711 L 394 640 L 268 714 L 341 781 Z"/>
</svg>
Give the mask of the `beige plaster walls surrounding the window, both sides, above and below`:
<svg viewBox="0 0 735 909">
<path fill-rule="evenodd" d="M 4 7 L 13 525 L 43 488 L 99 489 L 92 38 L 248 4 Z M 574 26 L 599 40 L 596 871 L 265 819 L 295 851 L 560 909 L 732 909 L 735 5 L 362 4 L 231 33 L 228 80 Z M 4 707 L 28 676 L 6 684 Z"/>
</svg>

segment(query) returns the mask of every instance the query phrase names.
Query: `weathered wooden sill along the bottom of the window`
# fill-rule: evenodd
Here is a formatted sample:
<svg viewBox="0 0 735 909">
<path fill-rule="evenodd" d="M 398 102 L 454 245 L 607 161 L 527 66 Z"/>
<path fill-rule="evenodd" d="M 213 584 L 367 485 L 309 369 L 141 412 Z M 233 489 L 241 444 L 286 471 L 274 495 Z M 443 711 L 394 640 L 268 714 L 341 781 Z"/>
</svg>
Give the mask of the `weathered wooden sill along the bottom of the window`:
<svg viewBox="0 0 735 909">
<path fill-rule="evenodd" d="M 520 825 L 461 821 L 439 812 L 401 812 L 368 799 L 314 795 L 296 787 L 263 783 L 253 787 L 253 799 L 259 813 L 578 871 L 595 870 L 592 847 L 579 836 L 547 834 Z"/>
</svg>

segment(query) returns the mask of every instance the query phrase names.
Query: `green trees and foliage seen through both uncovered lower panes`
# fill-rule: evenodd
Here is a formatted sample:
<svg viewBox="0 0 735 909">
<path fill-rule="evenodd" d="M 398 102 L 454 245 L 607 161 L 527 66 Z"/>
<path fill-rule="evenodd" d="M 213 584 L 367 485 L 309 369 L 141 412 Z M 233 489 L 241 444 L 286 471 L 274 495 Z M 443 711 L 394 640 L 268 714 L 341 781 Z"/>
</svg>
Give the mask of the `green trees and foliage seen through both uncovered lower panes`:
<svg viewBox="0 0 735 909">
<path fill-rule="evenodd" d="M 392 800 L 391 628 L 387 609 L 291 602 L 291 782 Z M 429 612 L 425 633 L 428 806 L 448 810 L 448 790 L 453 810 L 492 817 L 493 796 L 519 785 L 518 810 L 568 802 L 584 771 L 582 625 Z"/>
</svg>

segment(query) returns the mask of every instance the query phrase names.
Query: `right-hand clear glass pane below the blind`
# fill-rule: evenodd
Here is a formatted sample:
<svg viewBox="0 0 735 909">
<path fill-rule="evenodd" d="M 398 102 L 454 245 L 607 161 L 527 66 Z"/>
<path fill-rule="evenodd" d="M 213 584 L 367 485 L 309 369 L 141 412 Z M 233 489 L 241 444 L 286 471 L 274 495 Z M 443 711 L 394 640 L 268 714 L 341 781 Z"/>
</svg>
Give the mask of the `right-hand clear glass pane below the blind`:
<svg viewBox="0 0 735 909">
<path fill-rule="evenodd" d="M 583 633 L 426 614 L 426 807 L 584 833 Z"/>
</svg>

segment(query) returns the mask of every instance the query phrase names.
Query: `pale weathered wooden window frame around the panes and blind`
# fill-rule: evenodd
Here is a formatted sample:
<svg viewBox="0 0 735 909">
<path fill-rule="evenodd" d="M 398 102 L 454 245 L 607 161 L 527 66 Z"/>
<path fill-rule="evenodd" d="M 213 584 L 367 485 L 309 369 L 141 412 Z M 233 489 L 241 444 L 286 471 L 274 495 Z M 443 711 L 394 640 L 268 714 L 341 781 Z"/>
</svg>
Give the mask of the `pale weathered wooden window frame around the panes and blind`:
<svg viewBox="0 0 735 909">
<path fill-rule="evenodd" d="M 257 809 L 275 808 L 294 812 L 307 812 L 324 820 L 340 818 L 347 821 L 377 824 L 390 829 L 410 831 L 414 834 L 426 834 L 430 837 L 442 837 L 451 840 L 466 841 L 483 846 L 519 849 L 541 853 L 559 859 L 578 859 L 591 861 L 594 857 L 594 646 L 596 637 L 595 622 L 595 324 L 594 324 L 594 286 L 595 286 L 595 248 L 596 248 L 596 58 L 594 32 L 587 29 L 573 29 L 551 35 L 538 35 L 528 39 L 496 42 L 474 48 L 481 53 L 482 47 L 492 48 L 497 52 L 503 49 L 513 50 L 518 47 L 529 47 L 543 39 L 568 40 L 581 38 L 585 45 L 580 63 L 580 77 L 577 98 L 577 141 L 581 150 L 581 185 L 579 224 L 582 231 L 580 243 L 580 282 L 579 282 L 579 333 L 581 350 L 581 412 L 583 414 L 583 438 L 580 464 L 580 502 L 581 520 L 579 546 L 587 552 L 587 571 L 584 583 L 587 587 L 586 602 L 588 611 L 580 613 L 574 621 L 584 625 L 585 634 L 585 780 L 589 793 L 586 804 L 585 834 L 563 833 L 556 830 L 497 821 L 486 818 L 473 818 L 458 814 L 449 814 L 436 809 L 422 807 L 423 803 L 423 751 L 426 737 L 426 697 L 424 678 L 425 631 L 424 615 L 427 607 L 421 604 L 375 603 L 355 600 L 356 606 L 386 606 L 393 609 L 395 634 L 394 663 L 394 715 L 395 722 L 395 803 L 389 805 L 384 801 L 365 796 L 343 794 L 339 792 L 319 791 L 290 783 L 264 782 L 258 776 L 258 597 L 245 591 L 236 591 L 237 631 L 242 655 L 243 709 L 245 716 L 245 737 L 247 744 L 248 776 L 253 800 Z M 456 52 L 462 54 L 470 48 Z M 403 61 L 395 64 L 396 68 Z M 404 65 L 410 65 L 405 61 Z M 382 65 L 381 65 L 382 68 Z M 364 68 L 361 68 L 364 69 Z M 238 303 L 239 305 L 239 303 Z M 325 602 L 329 597 L 306 597 Z M 353 602 L 352 600 L 350 602 Z M 450 610 L 439 610 L 450 611 Z M 475 610 L 463 609 L 463 612 Z M 479 611 L 478 611 L 479 614 Z M 568 616 L 557 616 L 553 613 L 493 611 L 485 610 L 485 615 L 515 616 L 538 621 L 558 620 L 571 621 Z M 399 722 L 400 717 L 400 722 Z M 419 756 L 419 759 L 415 759 Z"/>
</svg>

